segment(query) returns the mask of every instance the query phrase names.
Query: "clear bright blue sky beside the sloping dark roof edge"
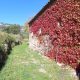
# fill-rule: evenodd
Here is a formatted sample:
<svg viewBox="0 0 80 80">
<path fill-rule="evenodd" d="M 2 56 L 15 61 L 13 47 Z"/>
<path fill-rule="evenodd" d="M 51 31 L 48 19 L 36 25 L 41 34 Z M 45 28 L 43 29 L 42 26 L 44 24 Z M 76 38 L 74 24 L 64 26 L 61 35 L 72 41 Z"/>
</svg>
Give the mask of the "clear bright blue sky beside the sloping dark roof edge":
<svg viewBox="0 0 80 80">
<path fill-rule="evenodd" d="M 0 22 L 24 25 L 49 0 L 0 0 Z"/>
</svg>

